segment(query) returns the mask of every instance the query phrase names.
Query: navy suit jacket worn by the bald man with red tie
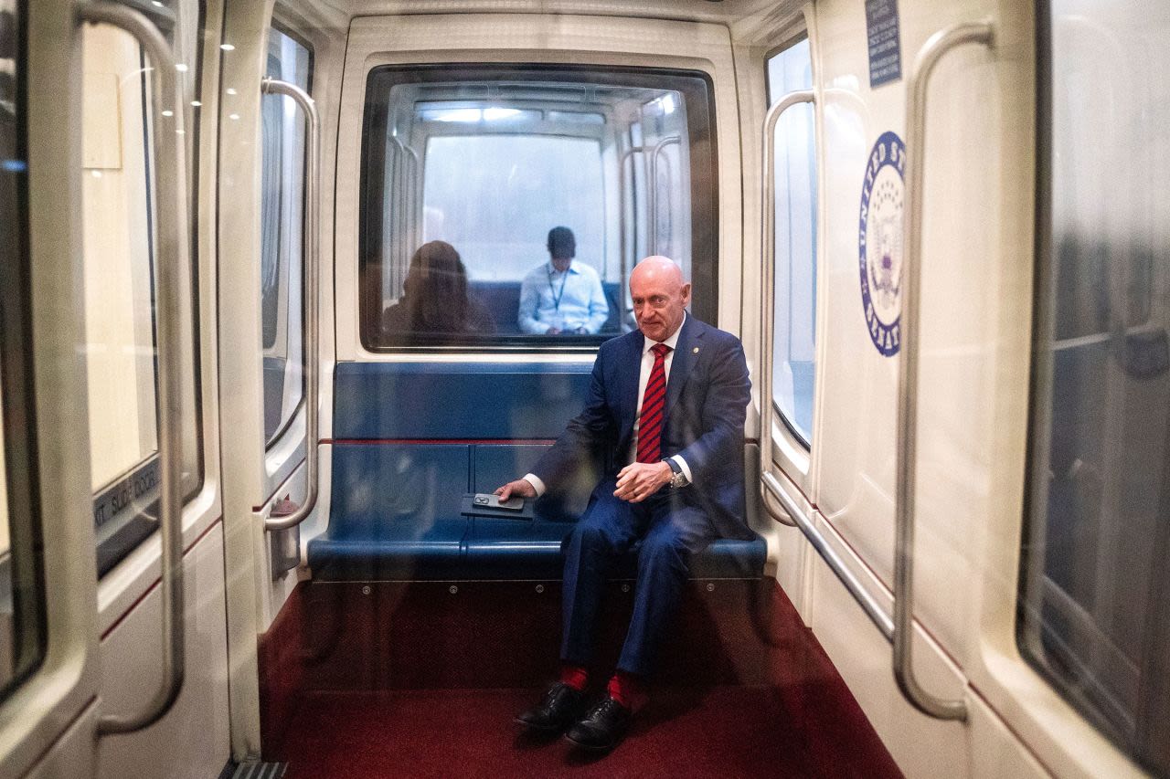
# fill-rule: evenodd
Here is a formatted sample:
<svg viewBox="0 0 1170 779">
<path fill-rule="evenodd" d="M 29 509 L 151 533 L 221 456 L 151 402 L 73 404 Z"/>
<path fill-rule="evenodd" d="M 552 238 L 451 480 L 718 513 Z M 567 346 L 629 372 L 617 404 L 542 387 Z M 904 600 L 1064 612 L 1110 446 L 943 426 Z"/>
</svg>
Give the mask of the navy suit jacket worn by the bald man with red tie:
<svg viewBox="0 0 1170 779">
<path fill-rule="evenodd" d="M 597 454 L 608 462 L 607 476 L 625 466 L 645 343 L 635 330 L 601 344 L 584 411 L 532 469 L 543 482 L 562 484 Z M 688 315 L 667 380 L 662 456 L 681 455 L 687 461 L 693 483 L 679 490 L 676 499 L 701 509 L 724 538 L 755 537 L 745 521 L 743 488 L 743 425 L 750 393 L 739 339 Z"/>
</svg>

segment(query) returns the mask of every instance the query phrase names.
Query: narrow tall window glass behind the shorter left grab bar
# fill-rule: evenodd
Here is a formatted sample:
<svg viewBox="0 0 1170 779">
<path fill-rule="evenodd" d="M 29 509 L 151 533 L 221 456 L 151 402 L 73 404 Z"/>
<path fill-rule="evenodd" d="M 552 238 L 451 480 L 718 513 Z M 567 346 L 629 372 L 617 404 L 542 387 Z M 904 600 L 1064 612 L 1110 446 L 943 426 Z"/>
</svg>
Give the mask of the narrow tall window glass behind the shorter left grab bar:
<svg viewBox="0 0 1170 779">
<path fill-rule="evenodd" d="M 312 54 L 276 28 L 268 32 L 269 78 L 309 91 Z M 261 168 L 261 317 L 264 441 L 275 442 L 304 393 L 305 120 L 283 95 L 264 95 Z"/>
</svg>

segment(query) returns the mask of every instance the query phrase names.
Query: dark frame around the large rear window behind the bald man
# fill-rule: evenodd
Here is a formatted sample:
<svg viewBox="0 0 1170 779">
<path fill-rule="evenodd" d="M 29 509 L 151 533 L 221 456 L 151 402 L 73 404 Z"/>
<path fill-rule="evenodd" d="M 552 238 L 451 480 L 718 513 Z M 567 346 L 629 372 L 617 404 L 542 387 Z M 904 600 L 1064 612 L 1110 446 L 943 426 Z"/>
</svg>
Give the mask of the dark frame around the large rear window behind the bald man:
<svg viewBox="0 0 1170 779">
<path fill-rule="evenodd" d="M 385 74 L 385 75 L 384 75 Z M 720 192 L 718 192 L 718 139 L 715 85 L 710 74 L 702 70 L 681 68 L 644 68 L 634 66 L 599 66 L 572 63 L 534 62 L 474 62 L 474 63 L 424 63 L 379 64 L 365 74 L 364 103 L 362 111 L 362 147 L 358 153 L 359 185 L 357 207 L 358 233 L 358 339 L 360 346 L 373 354 L 404 353 L 596 353 L 601 343 L 621 333 L 596 336 L 532 336 L 491 335 L 476 338 L 466 335 L 419 336 L 398 340 L 380 336 L 383 298 L 378 285 L 363 283 L 378 269 L 380 263 L 371 261 L 367 235 L 379 234 L 384 208 L 374 208 L 369 194 L 384 189 L 377 160 L 378 144 L 370 143 L 387 120 L 388 95 L 398 84 L 460 82 L 460 81 L 544 81 L 557 82 L 565 78 L 589 78 L 597 84 L 620 84 L 645 89 L 669 89 L 683 96 L 687 106 L 690 147 L 690 202 L 691 202 L 691 285 L 700 290 L 693 295 L 691 313 L 706 322 L 717 322 L 718 317 L 718 249 L 720 249 Z M 701 84 L 701 87 L 700 87 Z M 376 90 L 383 97 L 376 98 Z M 619 174 L 621 172 L 619 171 Z M 373 180 L 377 179 L 377 180 Z M 381 205 L 381 200 L 378 205 Z M 379 221 L 371 222 L 370 214 Z M 709 257 L 710 262 L 695 262 L 696 257 Z M 380 275 L 378 276 L 380 278 Z M 625 285 L 626 280 L 620 283 Z"/>
</svg>

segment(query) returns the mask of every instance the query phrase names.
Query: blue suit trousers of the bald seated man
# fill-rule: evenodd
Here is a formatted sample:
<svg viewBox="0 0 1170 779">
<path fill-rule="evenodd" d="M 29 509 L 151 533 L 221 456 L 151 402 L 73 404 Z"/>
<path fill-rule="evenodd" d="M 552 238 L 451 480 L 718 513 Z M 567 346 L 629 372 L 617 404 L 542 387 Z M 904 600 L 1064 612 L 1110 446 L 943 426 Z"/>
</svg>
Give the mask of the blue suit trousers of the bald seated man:
<svg viewBox="0 0 1170 779">
<path fill-rule="evenodd" d="M 707 515 L 663 488 L 641 503 L 613 496 L 615 478 L 593 491 L 589 509 L 565 538 L 560 660 L 587 666 L 603 590 L 614 563 L 638 545 L 634 612 L 618 670 L 648 676 L 690 571 L 690 558 L 718 537 Z M 684 488 L 686 489 L 686 488 Z"/>
</svg>

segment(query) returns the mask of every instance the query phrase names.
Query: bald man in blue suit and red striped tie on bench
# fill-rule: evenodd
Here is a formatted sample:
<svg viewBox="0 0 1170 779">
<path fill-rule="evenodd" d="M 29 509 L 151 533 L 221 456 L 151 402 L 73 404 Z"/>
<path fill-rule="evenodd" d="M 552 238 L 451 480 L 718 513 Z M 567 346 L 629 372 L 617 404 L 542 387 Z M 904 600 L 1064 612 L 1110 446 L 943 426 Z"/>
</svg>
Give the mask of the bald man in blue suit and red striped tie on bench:
<svg viewBox="0 0 1170 779">
<path fill-rule="evenodd" d="M 598 450 L 614 468 L 565 539 L 562 676 L 517 722 L 569 729 L 586 749 L 613 749 L 653 669 L 686 586 L 689 560 L 716 538 L 752 538 L 744 522 L 743 425 L 751 382 L 735 336 L 687 315 L 690 284 L 668 257 L 629 275 L 638 330 L 598 351 L 585 409 L 531 474 L 496 490 L 536 497 Z M 620 469 L 619 469 L 620 468 Z M 614 473 L 615 471 L 615 473 Z M 586 667 L 612 563 L 639 544 L 634 611 L 607 695 L 583 718 Z"/>
</svg>

